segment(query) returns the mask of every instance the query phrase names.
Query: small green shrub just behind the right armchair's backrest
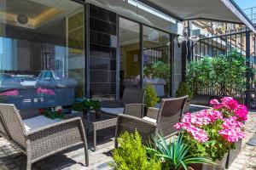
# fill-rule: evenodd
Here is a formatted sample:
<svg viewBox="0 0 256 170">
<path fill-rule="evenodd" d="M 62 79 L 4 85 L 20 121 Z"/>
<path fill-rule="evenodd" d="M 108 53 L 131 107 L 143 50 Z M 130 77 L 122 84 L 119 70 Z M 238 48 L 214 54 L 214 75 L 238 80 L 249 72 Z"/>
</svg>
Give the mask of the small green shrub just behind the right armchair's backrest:
<svg viewBox="0 0 256 170">
<path fill-rule="evenodd" d="M 184 112 L 187 112 L 189 111 L 189 105 L 191 103 L 191 99 L 193 97 L 193 92 L 191 90 L 191 87 L 188 85 L 187 82 L 181 82 L 177 88 L 177 91 L 176 91 L 176 97 L 183 97 L 185 95 L 188 95 L 189 98 L 187 100 L 187 103 L 185 105 L 185 108 L 184 108 Z"/>
</svg>

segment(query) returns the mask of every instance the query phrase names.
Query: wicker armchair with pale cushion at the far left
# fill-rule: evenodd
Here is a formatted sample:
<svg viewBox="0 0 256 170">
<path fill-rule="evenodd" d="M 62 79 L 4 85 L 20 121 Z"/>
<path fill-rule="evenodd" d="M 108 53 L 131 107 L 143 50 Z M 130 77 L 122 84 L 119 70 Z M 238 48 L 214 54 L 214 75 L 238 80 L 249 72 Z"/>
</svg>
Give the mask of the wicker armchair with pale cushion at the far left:
<svg viewBox="0 0 256 170">
<path fill-rule="evenodd" d="M 32 168 L 32 163 L 79 144 L 84 144 L 85 166 L 89 165 L 87 141 L 80 117 L 55 122 L 27 132 L 21 117 L 31 118 L 31 116 L 32 111 L 19 112 L 15 105 L 0 104 L 0 130 L 5 132 L 9 142 L 26 154 L 27 170 Z"/>
</svg>

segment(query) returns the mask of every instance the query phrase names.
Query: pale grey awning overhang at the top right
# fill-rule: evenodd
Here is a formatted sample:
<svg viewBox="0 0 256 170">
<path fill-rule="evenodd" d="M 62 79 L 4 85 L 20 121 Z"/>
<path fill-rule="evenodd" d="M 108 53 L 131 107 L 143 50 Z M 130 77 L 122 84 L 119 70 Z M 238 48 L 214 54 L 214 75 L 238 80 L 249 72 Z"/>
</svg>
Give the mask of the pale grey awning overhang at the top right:
<svg viewBox="0 0 256 170">
<path fill-rule="evenodd" d="M 214 20 L 244 24 L 256 33 L 252 20 L 233 0 L 139 0 L 180 21 Z"/>
</svg>

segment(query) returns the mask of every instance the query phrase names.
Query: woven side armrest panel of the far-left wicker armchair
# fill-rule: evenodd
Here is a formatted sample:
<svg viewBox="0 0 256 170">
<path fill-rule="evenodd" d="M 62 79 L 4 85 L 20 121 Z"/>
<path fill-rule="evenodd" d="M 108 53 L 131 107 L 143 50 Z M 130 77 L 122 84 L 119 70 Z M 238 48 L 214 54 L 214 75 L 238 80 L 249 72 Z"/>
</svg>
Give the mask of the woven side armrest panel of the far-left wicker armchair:
<svg viewBox="0 0 256 170">
<path fill-rule="evenodd" d="M 27 151 L 36 161 L 78 144 L 87 144 L 80 117 L 39 127 L 25 133 L 25 136 Z"/>
</svg>

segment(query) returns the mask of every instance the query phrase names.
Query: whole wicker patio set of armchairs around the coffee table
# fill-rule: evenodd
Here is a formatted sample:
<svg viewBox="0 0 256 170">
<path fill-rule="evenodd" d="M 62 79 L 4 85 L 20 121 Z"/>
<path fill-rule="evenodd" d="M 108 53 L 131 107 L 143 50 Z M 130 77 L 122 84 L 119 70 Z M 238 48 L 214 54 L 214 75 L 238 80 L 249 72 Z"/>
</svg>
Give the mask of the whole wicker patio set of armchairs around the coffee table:
<svg viewBox="0 0 256 170">
<path fill-rule="evenodd" d="M 180 122 L 187 98 L 162 99 L 160 109 L 148 108 L 144 116 L 143 92 L 127 89 L 122 100 L 103 101 L 102 111 L 96 112 L 96 116 L 67 120 L 51 120 L 40 116 L 38 110 L 18 111 L 15 105 L 0 104 L 0 135 L 26 154 L 27 170 L 36 161 L 80 144 L 84 145 L 85 166 L 89 166 L 85 130 L 90 126 L 94 132 L 95 149 L 96 130 L 112 126 L 116 126 L 115 139 L 120 133 L 136 130 L 143 141 L 148 141 L 157 132 L 167 138 L 176 133 L 173 125 Z"/>
</svg>

